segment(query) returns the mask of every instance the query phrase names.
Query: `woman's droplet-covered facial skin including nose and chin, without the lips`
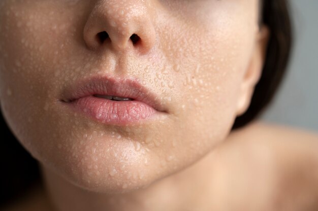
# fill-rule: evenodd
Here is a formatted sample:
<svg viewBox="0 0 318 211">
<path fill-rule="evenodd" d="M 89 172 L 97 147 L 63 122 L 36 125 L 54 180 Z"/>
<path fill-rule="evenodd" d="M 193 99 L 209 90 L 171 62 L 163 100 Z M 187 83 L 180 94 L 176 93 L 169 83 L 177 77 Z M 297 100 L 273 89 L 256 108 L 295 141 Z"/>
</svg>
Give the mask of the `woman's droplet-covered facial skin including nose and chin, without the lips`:
<svg viewBox="0 0 318 211">
<path fill-rule="evenodd" d="M 2 0 L 1 109 L 21 144 L 73 184 L 144 187 L 229 134 L 261 71 L 258 36 L 256 0 Z M 162 110 L 119 124 L 66 102 L 83 81 L 109 78 L 137 81 Z"/>
</svg>

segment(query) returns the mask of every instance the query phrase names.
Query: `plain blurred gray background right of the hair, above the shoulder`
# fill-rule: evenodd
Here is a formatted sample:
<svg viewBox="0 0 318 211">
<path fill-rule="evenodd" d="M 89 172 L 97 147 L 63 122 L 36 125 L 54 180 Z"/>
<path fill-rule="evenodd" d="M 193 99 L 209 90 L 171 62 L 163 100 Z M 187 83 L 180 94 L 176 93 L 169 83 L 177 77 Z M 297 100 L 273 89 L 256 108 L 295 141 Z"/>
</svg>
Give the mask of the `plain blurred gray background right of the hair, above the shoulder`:
<svg viewBox="0 0 318 211">
<path fill-rule="evenodd" d="M 291 1 L 295 43 L 288 74 L 262 120 L 318 131 L 318 0 Z"/>
</svg>

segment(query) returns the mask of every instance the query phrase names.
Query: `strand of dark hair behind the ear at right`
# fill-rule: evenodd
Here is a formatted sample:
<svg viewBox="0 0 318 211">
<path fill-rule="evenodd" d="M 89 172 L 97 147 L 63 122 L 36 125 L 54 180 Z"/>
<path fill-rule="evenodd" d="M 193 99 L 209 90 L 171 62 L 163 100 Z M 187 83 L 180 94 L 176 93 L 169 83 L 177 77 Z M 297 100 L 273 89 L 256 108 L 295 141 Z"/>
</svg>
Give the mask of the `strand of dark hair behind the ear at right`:
<svg viewBox="0 0 318 211">
<path fill-rule="evenodd" d="M 249 108 L 235 119 L 232 130 L 255 120 L 272 101 L 287 70 L 291 54 L 293 31 L 287 0 L 265 0 L 262 4 L 261 23 L 270 30 L 263 72 Z"/>
</svg>

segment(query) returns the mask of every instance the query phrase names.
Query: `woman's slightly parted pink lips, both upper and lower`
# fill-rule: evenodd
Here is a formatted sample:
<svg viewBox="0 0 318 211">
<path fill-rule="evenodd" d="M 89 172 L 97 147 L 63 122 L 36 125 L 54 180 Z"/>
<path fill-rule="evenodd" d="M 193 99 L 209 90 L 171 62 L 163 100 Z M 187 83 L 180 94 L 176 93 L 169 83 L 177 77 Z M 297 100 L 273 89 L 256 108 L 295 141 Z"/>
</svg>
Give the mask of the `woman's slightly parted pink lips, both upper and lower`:
<svg viewBox="0 0 318 211">
<path fill-rule="evenodd" d="M 65 90 L 61 101 L 103 123 L 125 125 L 166 113 L 156 94 L 131 79 L 90 78 Z"/>
</svg>

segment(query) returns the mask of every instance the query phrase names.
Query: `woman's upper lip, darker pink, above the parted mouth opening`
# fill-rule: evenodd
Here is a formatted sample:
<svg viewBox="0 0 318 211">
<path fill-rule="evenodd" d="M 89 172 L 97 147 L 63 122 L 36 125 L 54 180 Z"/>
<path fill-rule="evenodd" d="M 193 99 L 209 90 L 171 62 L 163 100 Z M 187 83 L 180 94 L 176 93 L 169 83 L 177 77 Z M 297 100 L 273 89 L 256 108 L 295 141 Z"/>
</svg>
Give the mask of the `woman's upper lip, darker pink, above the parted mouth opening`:
<svg viewBox="0 0 318 211">
<path fill-rule="evenodd" d="M 90 95 L 113 95 L 144 102 L 157 111 L 165 112 L 160 98 L 142 86 L 137 80 L 115 79 L 109 76 L 99 76 L 81 81 L 75 87 L 70 87 L 64 93 L 62 101 L 73 100 Z"/>
</svg>

